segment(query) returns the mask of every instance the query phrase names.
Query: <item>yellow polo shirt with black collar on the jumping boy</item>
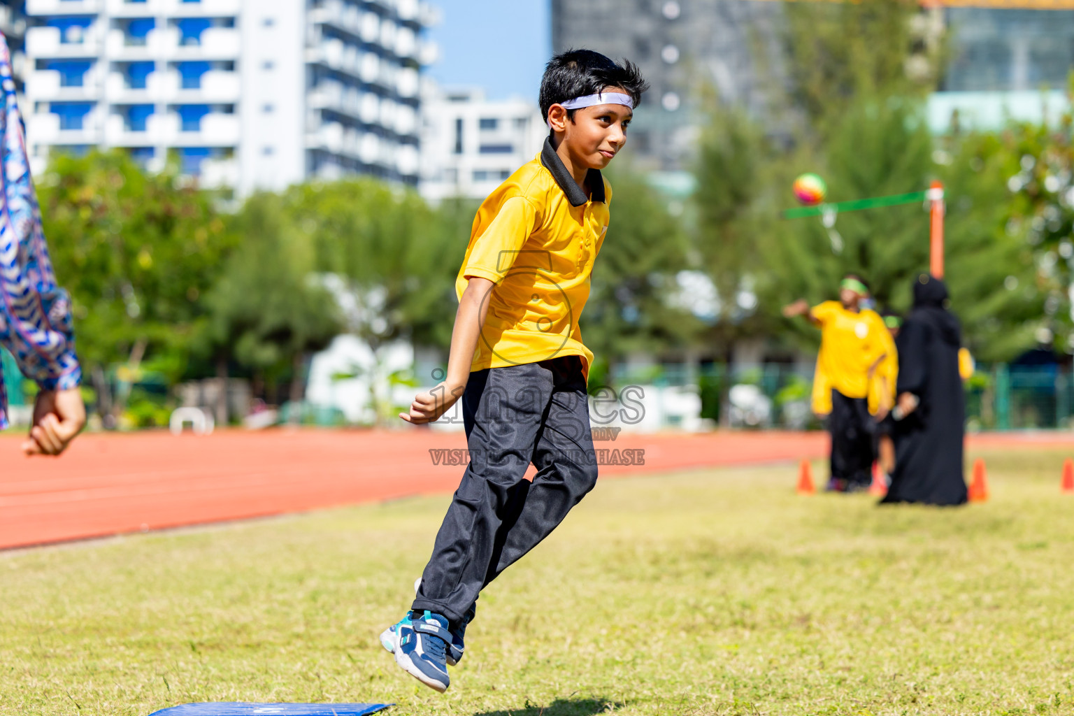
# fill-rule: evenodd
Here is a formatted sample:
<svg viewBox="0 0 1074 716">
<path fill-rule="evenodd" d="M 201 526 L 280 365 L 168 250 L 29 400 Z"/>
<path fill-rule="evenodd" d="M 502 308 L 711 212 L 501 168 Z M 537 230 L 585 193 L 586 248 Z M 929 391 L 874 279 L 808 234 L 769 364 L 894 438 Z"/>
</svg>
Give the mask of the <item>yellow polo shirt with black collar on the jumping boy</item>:
<svg viewBox="0 0 1074 716">
<path fill-rule="evenodd" d="M 470 277 L 496 284 L 471 371 L 579 355 L 589 377 L 593 353 L 578 319 L 608 231 L 611 186 L 594 170 L 586 184 L 590 196 L 546 141 L 481 204 L 455 279 L 460 298 Z"/>
</svg>

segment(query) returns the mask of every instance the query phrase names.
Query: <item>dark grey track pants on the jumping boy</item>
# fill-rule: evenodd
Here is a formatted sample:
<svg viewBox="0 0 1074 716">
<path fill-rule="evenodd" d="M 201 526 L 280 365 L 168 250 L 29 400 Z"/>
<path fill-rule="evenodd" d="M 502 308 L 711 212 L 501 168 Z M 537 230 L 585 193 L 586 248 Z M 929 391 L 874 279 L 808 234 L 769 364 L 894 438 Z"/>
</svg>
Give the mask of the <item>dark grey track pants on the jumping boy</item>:
<svg viewBox="0 0 1074 716">
<path fill-rule="evenodd" d="M 470 374 L 462 401 L 470 463 L 412 608 L 441 614 L 452 626 L 597 480 L 577 355 Z M 533 484 L 523 478 L 531 463 Z"/>
</svg>

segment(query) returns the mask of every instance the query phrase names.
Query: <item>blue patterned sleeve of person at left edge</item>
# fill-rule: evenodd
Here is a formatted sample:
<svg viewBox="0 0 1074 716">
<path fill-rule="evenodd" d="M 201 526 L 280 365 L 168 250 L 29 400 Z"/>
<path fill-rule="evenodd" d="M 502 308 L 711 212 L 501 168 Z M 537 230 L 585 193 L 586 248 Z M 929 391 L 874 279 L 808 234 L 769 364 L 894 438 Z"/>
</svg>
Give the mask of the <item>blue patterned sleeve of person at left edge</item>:
<svg viewBox="0 0 1074 716">
<path fill-rule="evenodd" d="M 76 388 L 82 368 L 74 351 L 71 299 L 56 286 L 48 259 L 2 35 L 0 85 L 0 344 L 42 389 Z"/>
</svg>

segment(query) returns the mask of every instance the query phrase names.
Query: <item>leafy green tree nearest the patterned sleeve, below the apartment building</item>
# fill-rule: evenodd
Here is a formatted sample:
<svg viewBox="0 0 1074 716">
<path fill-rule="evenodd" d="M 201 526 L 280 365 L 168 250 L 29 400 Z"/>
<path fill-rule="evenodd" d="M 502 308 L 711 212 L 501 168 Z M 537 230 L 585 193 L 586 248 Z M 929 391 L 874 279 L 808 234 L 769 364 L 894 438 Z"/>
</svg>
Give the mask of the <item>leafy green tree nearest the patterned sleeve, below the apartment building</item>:
<svg viewBox="0 0 1074 716">
<path fill-rule="evenodd" d="M 180 185 L 172 170 L 146 174 L 120 151 L 61 155 L 38 192 L 98 408 L 108 412 L 114 364 L 144 359 L 178 380 L 200 297 L 234 243 L 213 195 Z"/>
</svg>

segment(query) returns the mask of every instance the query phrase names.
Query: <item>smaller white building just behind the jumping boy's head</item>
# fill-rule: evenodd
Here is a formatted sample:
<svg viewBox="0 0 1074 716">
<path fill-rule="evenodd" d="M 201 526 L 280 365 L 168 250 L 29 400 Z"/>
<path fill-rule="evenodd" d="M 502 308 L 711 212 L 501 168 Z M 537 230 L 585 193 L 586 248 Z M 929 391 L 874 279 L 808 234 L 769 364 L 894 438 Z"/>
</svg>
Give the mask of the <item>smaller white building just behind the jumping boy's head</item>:
<svg viewBox="0 0 1074 716">
<path fill-rule="evenodd" d="M 536 102 L 487 100 L 478 88 L 422 91 L 421 193 L 484 199 L 540 151 L 548 128 Z"/>
</svg>

